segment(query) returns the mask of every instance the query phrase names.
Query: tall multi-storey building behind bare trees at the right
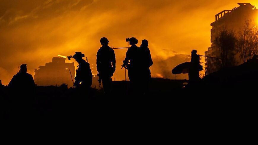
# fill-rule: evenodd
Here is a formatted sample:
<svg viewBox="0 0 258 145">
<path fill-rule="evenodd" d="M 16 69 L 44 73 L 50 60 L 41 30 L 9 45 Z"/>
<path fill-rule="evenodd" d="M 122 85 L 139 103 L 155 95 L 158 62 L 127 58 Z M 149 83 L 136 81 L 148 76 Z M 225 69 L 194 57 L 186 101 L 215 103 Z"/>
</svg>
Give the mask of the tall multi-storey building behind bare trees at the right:
<svg viewBox="0 0 258 145">
<path fill-rule="evenodd" d="M 214 44 L 216 36 L 223 29 L 233 30 L 238 32 L 240 28 L 245 24 L 246 20 L 254 21 L 257 24 L 258 9 L 249 3 L 238 3 L 239 7 L 235 7 L 232 10 L 224 10 L 215 15 L 215 21 L 211 23 L 211 47 L 205 52 L 205 56 L 219 58 L 219 49 Z M 235 56 L 236 60 L 240 60 L 238 56 Z M 219 60 L 212 58 L 205 58 L 206 74 L 210 74 L 214 71 L 218 71 Z"/>
</svg>

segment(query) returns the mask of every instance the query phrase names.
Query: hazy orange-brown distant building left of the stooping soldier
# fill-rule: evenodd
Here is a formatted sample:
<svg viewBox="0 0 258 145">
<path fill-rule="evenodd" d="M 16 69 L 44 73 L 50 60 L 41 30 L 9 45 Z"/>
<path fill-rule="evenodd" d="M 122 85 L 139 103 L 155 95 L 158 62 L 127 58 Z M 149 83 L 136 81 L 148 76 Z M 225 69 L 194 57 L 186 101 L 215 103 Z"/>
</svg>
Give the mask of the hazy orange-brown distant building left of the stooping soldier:
<svg viewBox="0 0 258 145">
<path fill-rule="evenodd" d="M 72 87 L 75 74 L 74 62 L 66 63 L 65 59 L 54 57 L 52 58 L 52 62 L 46 63 L 45 66 L 39 66 L 39 69 L 35 69 L 35 84 L 38 86 L 60 86 L 65 83 L 68 87 Z"/>
</svg>

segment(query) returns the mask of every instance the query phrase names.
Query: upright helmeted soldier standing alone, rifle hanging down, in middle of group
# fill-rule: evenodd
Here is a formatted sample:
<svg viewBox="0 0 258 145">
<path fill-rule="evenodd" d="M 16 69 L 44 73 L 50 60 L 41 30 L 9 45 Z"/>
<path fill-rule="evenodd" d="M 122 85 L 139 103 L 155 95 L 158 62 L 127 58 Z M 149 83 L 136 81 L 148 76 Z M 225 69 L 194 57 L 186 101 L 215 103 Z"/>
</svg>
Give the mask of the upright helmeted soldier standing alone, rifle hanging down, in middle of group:
<svg viewBox="0 0 258 145">
<path fill-rule="evenodd" d="M 97 53 L 97 71 L 99 80 L 102 80 L 102 85 L 105 93 L 111 92 L 111 77 L 116 70 L 116 56 L 112 48 L 108 46 L 108 39 L 103 37 L 100 39 L 102 47 Z"/>
</svg>

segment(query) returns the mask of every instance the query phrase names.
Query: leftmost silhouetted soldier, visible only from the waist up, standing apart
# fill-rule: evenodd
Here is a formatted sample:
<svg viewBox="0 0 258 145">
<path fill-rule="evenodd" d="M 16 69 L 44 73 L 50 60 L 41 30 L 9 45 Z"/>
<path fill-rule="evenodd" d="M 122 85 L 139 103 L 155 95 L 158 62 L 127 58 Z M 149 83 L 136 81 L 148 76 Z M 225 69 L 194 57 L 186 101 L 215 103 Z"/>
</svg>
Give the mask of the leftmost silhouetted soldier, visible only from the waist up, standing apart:
<svg viewBox="0 0 258 145">
<path fill-rule="evenodd" d="M 27 73 L 26 64 L 20 66 L 20 71 L 15 74 L 12 80 L 8 84 L 8 88 L 15 90 L 23 90 L 25 93 L 30 93 L 26 91 L 31 91 L 35 87 L 35 83 L 31 74 Z"/>
</svg>

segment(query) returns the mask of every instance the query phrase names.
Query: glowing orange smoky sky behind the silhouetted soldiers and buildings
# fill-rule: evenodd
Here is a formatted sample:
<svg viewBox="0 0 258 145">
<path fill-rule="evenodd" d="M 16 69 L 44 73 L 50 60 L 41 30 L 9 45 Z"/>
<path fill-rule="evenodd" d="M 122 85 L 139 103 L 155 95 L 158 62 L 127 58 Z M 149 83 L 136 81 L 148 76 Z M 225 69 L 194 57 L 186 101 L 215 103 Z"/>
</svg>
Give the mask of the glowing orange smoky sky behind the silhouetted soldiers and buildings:
<svg viewBox="0 0 258 145">
<path fill-rule="evenodd" d="M 204 54 L 215 14 L 237 2 L 258 5 L 257 0 L 0 0 L 0 79 L 7 85 L 20 64 L 33 74 L 52 57 L 75 51 L 95 65 L 103 36 L 114 47 L 127 47 L 127 37 L 147 39 L 154 59 L 192 49 Z M 125 52 L 115 50 L 117 80 L 124 78 Z"/>
</svg>

